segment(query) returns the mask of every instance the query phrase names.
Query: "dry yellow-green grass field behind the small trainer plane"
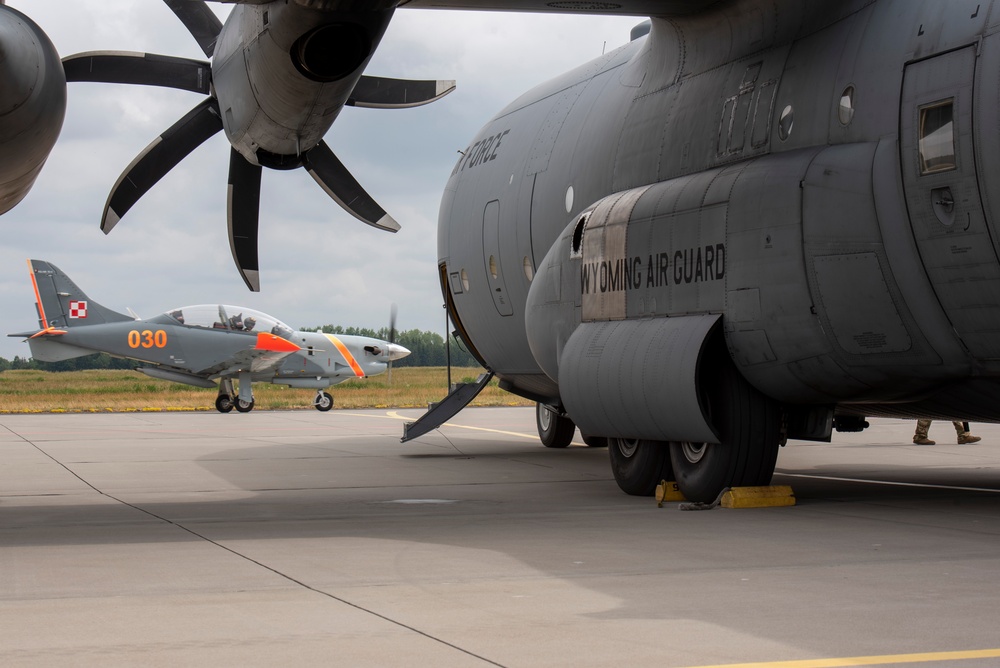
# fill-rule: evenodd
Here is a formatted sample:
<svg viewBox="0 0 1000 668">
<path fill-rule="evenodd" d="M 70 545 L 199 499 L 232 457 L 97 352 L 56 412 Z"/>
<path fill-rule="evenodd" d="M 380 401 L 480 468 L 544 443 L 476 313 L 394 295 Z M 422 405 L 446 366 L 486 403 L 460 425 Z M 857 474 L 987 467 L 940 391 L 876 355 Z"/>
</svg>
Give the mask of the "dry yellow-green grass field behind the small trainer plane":
<svg viewBox="0 0 1000 668">
<path fill-rule="evenodd" d="M 475 380 L 482 369 L 452 369 L 452 382 Z M 447 394 L 444 367 L 403 367 L 388 374 L 349 380 L 327 390 L 337 408 L 424 408 Z M 215 410 L 216 390 L 150 378 L 137 371 L 4 371 L 0 413 Z M 315 390 L 254 383 L 255 409 L 312 409 Z M 494 379 L 473 406 L 531 406 L 504 392 Z"/>
</svg>

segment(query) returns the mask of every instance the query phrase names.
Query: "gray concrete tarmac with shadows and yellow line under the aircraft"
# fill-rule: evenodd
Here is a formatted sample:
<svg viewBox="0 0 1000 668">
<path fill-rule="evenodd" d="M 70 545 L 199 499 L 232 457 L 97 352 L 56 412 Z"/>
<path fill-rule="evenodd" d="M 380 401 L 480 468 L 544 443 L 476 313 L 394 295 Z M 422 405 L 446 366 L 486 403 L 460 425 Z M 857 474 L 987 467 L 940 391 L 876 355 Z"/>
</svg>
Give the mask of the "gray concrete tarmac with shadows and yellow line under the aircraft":
<svg viewBox="0 0 1000 668">
<path fill-rule="evenodd" d="M 420 413 L 0 416 L 0 665 L 1000 664 L 1000 426 L 793 441 L 795 507 L 683 512 L 532 409 Z"/>
</svg>

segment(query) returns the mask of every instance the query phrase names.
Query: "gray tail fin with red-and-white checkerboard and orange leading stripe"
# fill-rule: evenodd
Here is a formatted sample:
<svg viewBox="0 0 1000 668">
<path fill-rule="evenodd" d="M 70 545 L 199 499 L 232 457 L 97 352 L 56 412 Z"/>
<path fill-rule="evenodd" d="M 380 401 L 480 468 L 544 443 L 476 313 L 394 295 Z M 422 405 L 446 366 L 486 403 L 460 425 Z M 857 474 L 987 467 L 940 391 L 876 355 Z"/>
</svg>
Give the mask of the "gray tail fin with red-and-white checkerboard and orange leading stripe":
<svg viewBox="0 0 1000 668">
<path fill-rule="evenodd" d="M 35 290 L 38 327 L 58 330 L 132 320 L 90 299 L 59 267 L 44 260 L 28 260 Z"/>
</svg>

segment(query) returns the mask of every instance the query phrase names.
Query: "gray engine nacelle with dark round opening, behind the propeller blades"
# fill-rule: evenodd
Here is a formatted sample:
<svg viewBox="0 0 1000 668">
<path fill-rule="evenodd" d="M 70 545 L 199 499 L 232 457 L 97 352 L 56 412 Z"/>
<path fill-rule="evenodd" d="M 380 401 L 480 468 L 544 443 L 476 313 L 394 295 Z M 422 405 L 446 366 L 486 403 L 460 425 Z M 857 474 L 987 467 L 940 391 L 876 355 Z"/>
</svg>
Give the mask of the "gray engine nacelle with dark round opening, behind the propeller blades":
<svg viewBox="0 0 1000 668">
<path fill-rule="evenodd" d="M 254 164 L 297 167 L 293 158 L 315 146 L 340 114 L 392 13 L 238 5 L 212 61 L 233 147 Z"/>
</svg>

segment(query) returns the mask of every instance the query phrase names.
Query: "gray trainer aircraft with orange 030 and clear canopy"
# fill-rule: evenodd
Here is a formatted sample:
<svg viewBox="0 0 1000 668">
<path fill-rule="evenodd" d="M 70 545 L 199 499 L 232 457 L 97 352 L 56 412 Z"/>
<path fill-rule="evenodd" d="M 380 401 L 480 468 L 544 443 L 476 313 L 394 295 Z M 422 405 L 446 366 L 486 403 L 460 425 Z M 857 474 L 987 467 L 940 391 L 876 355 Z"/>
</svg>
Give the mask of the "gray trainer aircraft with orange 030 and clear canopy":
<svg viewBox="0 0 1000 668">
<path fill-rule="evenodd" d="M 137 371 L 176 383 L 215 387 L 215 407 L 253 410 L 253 381 L 316 390 L 313 405 L 333 407 L 324 390 L 351 378 L 384 372 L 410 354 L 392 341 L 293 330 L 249 308 L 201 304 L 153 318 L 117 313 L 90 299 L 58 267 L 28 260 L 39 330 L 24 337 L 31 355 L 44 362 L 104 352 L 145 362 Z M 390 338 L 395 331 L 390 326 Z M 233 381 L 238 381 L 238 391 Z"/>
</svg>

